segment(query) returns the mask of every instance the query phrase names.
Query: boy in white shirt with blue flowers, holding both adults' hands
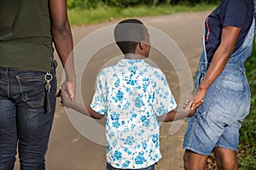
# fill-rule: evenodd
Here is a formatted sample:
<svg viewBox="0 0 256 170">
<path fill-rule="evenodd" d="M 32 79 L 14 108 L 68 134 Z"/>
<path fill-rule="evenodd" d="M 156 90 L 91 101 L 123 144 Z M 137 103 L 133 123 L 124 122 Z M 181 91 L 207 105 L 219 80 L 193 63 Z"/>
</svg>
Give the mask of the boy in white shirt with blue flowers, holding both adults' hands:
<svg viewBox="0 0 256 170">
<path fill-rule="evenodd" d="M 77 105 L 62 94 L 65 106 L 87 116 L 106 116 L 107 170 L 152 170 L 160 160 L 160 122 L 188 115 L 176 115 L 177 107 L 166 77 L 160 69 L 143 61 L 150 50 L 146 26 L 139 20 L 123 20 L 114 38 L 125 59 L 103 69 L 90 106 Z"/>
</svg>

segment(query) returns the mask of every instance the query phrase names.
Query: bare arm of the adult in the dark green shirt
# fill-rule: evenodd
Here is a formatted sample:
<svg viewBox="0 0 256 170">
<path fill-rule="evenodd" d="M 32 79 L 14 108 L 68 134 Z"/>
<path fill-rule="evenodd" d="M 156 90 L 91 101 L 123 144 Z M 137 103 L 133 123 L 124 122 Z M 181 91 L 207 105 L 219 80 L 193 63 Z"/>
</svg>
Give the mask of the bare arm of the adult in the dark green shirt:
<svg viewBox="0 0 256 170">
<path fill-rule="evenodd" d="M 55 48 L 67 76 L 61 88 L 67 90 L 69 98 L 74 101 L 76 76 L 73 65 L 73 37 L 67 19 L 67 1 L 49 0 L 49 12 Z"/>
</svg>

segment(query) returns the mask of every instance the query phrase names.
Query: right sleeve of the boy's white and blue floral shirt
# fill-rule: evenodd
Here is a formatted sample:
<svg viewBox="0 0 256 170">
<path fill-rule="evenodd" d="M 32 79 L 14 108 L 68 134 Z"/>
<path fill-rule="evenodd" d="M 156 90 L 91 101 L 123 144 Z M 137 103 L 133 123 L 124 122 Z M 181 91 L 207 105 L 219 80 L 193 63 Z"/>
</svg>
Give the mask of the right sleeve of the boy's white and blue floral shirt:
<svg viewBox="0 0 256 170">
<path fill-rule="evenodd" d="M 161 116 L 177 107 L 171 89 L 163 72 L 153 73 L 154 104 L 153 109 L 156 116 Z"/>
</svg>

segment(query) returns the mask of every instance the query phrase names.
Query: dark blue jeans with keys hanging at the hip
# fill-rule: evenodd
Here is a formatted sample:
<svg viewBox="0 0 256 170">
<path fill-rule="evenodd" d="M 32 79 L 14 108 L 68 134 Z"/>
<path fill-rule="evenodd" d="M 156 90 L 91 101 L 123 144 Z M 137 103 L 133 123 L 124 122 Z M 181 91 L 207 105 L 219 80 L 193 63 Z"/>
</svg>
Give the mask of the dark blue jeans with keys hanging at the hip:
<svg viewBox="0 0 256 170">
<path fill-rule="evenodd" d="M 0 170 L 14 169 L 17 143 L 20 169 L 45 169 L 55 112 L 54 68 L 51 74 L 51 111 L 46 113 L 45 72 L 0 68 Z"/>
</svg>

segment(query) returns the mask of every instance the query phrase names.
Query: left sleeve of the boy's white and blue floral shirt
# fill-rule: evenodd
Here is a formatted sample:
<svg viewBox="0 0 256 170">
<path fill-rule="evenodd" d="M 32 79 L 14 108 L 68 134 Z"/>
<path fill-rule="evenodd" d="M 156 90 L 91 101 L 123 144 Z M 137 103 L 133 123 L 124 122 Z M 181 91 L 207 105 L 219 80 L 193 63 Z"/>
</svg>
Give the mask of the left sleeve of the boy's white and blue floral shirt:
<svg viewBox="0 0 256 170">
<path fill-rule="evenodd" d="M 106 84 L 106 74 L 101 71 L 96 78 L 96 92 L 93 96 L 92 102 L 90 104 L 91 109 L 104 115 L 107 111 L 107 84 Z"/>
</svg>

